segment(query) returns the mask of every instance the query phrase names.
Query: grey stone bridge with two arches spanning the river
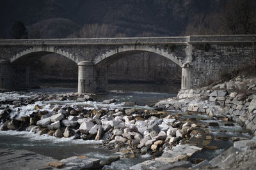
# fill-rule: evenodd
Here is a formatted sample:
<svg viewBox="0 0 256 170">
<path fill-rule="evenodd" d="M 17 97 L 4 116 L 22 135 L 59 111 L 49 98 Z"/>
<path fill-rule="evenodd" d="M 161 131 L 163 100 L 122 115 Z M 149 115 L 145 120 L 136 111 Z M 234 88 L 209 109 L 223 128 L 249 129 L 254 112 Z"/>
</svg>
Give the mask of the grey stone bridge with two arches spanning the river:
<svg viewBox="0 0 256 170">
<path fill-rule="evenodd" d="M 157 53 L 172 60 L 182 68 L 181 89 L 193 89 L 218 80 L 223 73 L 254 64 L 255 40 L 256 35 L 3 39 L 0 40 L 0 89 L 26 87 L 28 63 L 36 57 L 58 53 L 77 63 L 79 94 L 106 91 L 108 65 L 139 52 Z"/>
</svg>

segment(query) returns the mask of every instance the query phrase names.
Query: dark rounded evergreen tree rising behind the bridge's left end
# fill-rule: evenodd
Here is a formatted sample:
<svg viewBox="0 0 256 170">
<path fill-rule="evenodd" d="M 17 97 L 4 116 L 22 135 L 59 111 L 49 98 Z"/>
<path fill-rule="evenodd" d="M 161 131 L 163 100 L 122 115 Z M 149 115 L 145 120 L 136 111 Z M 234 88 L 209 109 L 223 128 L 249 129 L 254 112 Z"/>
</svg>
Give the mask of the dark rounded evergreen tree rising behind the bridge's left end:
<svg viewBox="0 0 256 170">
<path fill-rule="evenodd" d="M 21 21 L 17 21 L 12 25 L 11 36 L 14 39 L 26 39 L 28 38 L 28 30 Z"/>
</svg>

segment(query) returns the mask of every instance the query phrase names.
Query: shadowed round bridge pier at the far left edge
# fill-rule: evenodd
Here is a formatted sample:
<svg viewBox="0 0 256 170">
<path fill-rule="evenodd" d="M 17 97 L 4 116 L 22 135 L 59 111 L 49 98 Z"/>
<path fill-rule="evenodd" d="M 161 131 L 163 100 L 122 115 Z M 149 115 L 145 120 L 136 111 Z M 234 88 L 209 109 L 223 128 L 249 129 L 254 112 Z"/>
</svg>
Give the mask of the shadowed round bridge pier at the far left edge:
<svg viewBox="0 0 256 170">
<path fill-rule="evenodd" d="M 11 89 L 11 65 L 8 60 L 0 60 L 0 89 Z"/>
</svg>

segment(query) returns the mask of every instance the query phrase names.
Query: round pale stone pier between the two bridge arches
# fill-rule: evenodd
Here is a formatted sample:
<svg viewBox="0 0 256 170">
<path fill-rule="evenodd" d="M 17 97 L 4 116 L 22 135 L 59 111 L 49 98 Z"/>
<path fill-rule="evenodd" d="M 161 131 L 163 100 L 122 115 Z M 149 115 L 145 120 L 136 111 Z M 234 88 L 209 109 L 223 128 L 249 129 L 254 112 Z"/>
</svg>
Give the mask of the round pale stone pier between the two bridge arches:
<svg viewBox="0 0 256 170">
<path fill-rule="evenodd" d="M 95 67 L 93 62 L 81 61 L 78 64 L 78 94 L 93 93 L 95 85 Z"/>
</svg>

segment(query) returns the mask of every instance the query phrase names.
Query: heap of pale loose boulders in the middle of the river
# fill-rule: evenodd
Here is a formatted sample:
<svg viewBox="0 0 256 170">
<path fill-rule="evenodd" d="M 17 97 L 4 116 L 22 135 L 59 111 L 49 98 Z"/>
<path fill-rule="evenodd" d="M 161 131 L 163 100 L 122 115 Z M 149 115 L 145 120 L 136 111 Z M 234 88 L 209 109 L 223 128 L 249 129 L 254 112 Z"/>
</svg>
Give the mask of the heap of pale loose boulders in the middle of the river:
<svg viewBox="0 0 256 170">
<path fill-rule="evenodd" d="M 84 97 L 83 100 L 90 98 Z M 40 135 L 49 134 L 56 138 L 95 141 L 102 139 L 104 146 L 120 150 L 124 157 L 135 157 L 136 154 L 145 153 L 159 157 L 164 150 L 189 141 L 191 136 L 194 139 L 195 133 L 207 131 L 204 125 L 196 120 L 182 119 L 177 114 L 161 109 L 87 110 L 77 105 L 47 111 L 44 110 L 44 106 L 36 105 L 35 111 L 30 115 L 14 118 L 10 117 L 11 111 L 12 109 L 7 106 L 0 114 L 2 131 L 30 131 Z M 204 138 L 198 139 L 197 143 L 192 143 L 193 145 L 206 140 L 208 134 L 202 134 Z"/>
</svg>

